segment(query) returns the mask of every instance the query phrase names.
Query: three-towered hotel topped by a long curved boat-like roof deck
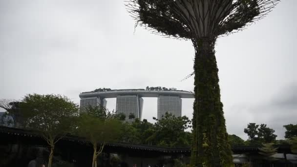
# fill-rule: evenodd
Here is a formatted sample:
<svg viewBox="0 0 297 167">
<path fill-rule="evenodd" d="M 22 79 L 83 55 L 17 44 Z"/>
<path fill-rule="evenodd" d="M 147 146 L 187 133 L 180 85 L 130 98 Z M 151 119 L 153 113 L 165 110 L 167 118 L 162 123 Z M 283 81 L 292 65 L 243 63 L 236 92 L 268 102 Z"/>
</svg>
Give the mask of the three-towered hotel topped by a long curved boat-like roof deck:
<svg viewBox="0 0 297 167">
<path fill-rule="evenodd" d="M 129 115 L 141 120 L 143 97 L 158 98 L 157 118 L 161 119 L 166 112 L 181 116 L 182 98 L 194 98 L 194 94 L 184 90 L 145 90 L 145 89 L 114 89 L 108 91 L 83 92 L 80 95 L 80 109 L 83 111 L 87 106 L 106 107 L 106 98 L 116 98 L 116 112 L 126 115 L 125 121 L 132 121 Z"/>
</svg>

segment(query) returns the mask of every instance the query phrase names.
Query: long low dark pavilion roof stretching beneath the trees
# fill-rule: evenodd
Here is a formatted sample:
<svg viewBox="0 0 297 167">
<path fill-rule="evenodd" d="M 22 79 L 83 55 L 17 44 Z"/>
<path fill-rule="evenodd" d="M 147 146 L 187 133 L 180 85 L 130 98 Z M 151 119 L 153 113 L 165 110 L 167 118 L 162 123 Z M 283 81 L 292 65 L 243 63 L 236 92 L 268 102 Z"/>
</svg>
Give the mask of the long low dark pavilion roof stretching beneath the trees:
<svg viewBox="0 0 297 167">
<path fill-rule="evenodd" d="M 11 128 L 0 126 L 0 145 L 1 144 L 26 144 L 26 145 L 39 145 L 47 146 L 47 143 L 42 139 L 38 132 Z M 77 136 L 67 135 L 57 144 L 62 143 L 61 145 L 88 145 L 88 142 L 84 138 Z M 232 151 L 234 154 L 241 153 L 257 153 L 258 147 L 260 146 L 233 146 Z M 277 145 L 278 153 L 291 153 L 290 145 Z M 149 146 L 149 145 L 139 145 L 131 143 L 107 143 L 106 148 L 110 152 L 126 152 L 126 151 L 145 151 L 145 152 L 155 152 L 155 153 L 164 153 L 164 154 L 186 154 L 191 153 L 191 147 L 160 147 L 160 146 Z"/>
</svg>

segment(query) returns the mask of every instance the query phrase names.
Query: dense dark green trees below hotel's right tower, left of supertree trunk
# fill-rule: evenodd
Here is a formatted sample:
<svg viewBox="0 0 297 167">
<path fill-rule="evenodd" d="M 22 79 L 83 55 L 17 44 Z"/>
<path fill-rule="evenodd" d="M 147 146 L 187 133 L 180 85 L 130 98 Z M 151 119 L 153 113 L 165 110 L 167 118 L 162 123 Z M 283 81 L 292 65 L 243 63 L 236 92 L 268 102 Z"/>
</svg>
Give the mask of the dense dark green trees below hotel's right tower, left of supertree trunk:
<svg viewBox="0 0 297 167">
<path fill-rule="evenodd" d="M 135 119 L 131 124 L 124 124 L 121 141 L 167 147 L 191 145 L 191 133 L 185 131 L 191 127 L 188 117 L 175 117 L 166 113 L 161 120 L 156 118 L 154 120 L 156 121 L 154 124 L 146 119 L 143 121 Z"/>
</svg>

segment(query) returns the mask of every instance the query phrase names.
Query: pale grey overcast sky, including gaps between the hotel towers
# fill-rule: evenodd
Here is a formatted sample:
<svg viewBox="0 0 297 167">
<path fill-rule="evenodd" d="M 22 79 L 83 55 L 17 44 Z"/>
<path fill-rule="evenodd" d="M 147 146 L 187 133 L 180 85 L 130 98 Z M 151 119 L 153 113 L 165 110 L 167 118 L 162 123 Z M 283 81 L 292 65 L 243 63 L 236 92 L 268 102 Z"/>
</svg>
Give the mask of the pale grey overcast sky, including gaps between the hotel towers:
<svg viewBox="0 0 297 167">
<path fill-rule="evenodd" d="M 176 87 L 193 90 L 194 49 L 137 27 L 123 0 L 0 0 L 0 99 L 28 93 Z M 227 131 L 243 139 L 248 123 L 267 124 L 277 139 L 297 124 L 297 0 L 282 0 L 264 20 L 216 42 Z M 192 118 L 193 99 L 182 114 Z M 107 100 L 115 108 L 115 99 Z M 3 111 L 3 110 L 2 110 Z M 157 116 L 144 98 L 143 118 Z"/>
</svg>

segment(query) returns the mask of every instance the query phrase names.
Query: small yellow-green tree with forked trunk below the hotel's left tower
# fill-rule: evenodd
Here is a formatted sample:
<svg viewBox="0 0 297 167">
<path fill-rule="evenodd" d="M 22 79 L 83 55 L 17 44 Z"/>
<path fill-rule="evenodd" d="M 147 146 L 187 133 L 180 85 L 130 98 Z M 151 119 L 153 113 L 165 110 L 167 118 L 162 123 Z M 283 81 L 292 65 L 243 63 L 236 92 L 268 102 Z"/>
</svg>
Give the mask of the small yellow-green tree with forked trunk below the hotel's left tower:
<svg viewBox="0 0 297 167">
<path fill-rule="evenodd" d="M 106 142 L 116 140 L 120 135 L 121 122 L 114 118 L 98 118 L 82 113 L 78 121 L 77 133 L 93 145 L 92 167 L 97 167 L 97 157 Z"/>
</svg>

